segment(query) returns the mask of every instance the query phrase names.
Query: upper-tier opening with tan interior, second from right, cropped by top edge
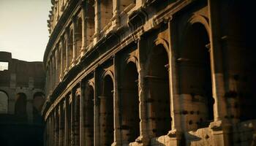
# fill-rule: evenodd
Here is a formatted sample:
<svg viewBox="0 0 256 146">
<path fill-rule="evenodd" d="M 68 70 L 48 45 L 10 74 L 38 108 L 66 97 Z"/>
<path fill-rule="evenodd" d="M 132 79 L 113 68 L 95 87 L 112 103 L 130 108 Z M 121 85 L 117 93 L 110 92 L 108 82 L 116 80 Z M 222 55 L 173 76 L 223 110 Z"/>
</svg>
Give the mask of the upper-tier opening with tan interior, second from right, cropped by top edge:
<svg viewBox="0 0 256 146">
<path fill-rule="evenodd" d="M 108 23 L 111 23 L 111 18 L 113 17 L 113 0 L 101 1 L 100 6 L 100 30 L 103 30 L 106 26 L 108 26 Z"/>
</svg>

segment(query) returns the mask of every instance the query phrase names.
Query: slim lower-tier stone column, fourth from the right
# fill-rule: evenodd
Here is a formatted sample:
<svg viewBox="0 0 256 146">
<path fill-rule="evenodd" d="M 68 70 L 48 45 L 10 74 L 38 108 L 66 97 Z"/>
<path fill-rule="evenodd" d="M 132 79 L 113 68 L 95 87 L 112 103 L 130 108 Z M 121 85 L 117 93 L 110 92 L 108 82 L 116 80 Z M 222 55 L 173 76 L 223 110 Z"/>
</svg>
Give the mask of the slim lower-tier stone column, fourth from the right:
<svg viewBox="0 0 256 146">
<path fill-rule="evenodd" d="M 114 59 L 113 59 L 113 64 L 114 64 L 114 72 L 115 72 L 115 77 L 114 77 L 114 95 L 113 95 L 113 109 L 114 109 L 114 114 L 113 114 L 113 118 L 114 118 L 114 143 L 113 145 L 121 145 L 121 125 L 120 125 L 120 107 L 119 107 L 119 93 L 120 93 L 120 88 L 119 87 L 119 76 L 118 76 L 118 71 L 119 71 L 119 64 L 120 64 L 120 60 L 118 58 L 118 56 L 115 55 Z"/>
</svg>

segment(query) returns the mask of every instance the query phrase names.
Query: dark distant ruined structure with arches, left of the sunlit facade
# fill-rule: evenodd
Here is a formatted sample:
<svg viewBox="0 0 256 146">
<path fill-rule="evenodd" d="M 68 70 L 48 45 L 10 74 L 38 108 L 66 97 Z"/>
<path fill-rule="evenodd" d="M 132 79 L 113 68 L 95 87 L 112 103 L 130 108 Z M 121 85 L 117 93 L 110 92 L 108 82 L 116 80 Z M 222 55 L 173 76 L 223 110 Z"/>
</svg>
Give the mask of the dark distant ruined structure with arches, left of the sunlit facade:
<svg viewBox="0 0 256 146">
<path fill-rule="evenodd" d="M 0 145 L 42 145 L 44 86 L 42 62 L 0 52 Z"/>
</svg>

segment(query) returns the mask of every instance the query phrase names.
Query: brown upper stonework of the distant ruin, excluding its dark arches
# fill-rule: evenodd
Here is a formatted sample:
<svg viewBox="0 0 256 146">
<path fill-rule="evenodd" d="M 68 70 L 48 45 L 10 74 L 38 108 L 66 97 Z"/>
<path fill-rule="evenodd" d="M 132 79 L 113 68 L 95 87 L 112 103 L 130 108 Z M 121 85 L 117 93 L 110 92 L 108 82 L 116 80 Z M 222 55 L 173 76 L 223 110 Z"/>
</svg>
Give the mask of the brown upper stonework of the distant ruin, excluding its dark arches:
<svg viewBox="0 0 256 146">
<path fill-rule="evenodd" d="M 18 104 L 18 93 L 24 93 L 26 96 L 27 121 L 33 123 L 35 109 L 39 107 L 37 113 L 42 109 L 45 99 L 34 102 L 38 95 L 44 98 L 45 73 L 42 69 L 42 62 L 26 62 L 12 58 L 11 53 L 0 52 L 0 62 L 8 62 L 8 69 L 0 71 L 0 91 L 1 95 L 7 96 L 7 111 L 4 113 L 15 114 L 15 104 Z M 39 94 L 38 94 L 39 93 Z M 2 96 L 1 96 L 2 97 Z M 19 107 L 19 106 L 18 106 Z M 34 109 L 35 108 L 35 109 Z M 35 116 L 35 115 L 34 115 Z"/>
</svg>

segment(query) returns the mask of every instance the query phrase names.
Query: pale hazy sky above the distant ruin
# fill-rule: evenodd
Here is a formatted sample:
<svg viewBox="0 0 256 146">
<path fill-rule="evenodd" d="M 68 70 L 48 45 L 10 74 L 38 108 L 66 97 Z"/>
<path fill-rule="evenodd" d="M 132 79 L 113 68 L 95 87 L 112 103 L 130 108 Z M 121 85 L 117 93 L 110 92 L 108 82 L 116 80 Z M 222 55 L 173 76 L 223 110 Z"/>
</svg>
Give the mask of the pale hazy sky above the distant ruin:
<svg viewBox="0 0 256 146">
<path fill-rule="evenodd" d="M 0 51 L 24 61 L 42 61 L 50 7 L 50 0 L 0 0 Z"/>
</svg>

